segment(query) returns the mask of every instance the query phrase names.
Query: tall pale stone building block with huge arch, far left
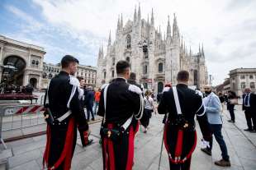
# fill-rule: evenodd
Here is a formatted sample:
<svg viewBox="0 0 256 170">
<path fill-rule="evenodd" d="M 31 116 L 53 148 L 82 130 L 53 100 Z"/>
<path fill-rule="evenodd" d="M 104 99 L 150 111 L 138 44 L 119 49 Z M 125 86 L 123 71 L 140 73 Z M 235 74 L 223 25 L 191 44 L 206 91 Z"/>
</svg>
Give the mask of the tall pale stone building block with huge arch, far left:
<svg viewBox="0 0 256 170">
<path fill-rule="evenodd" d="M 45 49 L 0 35 L 0 81 L 41 88 Z"/>
</svg>

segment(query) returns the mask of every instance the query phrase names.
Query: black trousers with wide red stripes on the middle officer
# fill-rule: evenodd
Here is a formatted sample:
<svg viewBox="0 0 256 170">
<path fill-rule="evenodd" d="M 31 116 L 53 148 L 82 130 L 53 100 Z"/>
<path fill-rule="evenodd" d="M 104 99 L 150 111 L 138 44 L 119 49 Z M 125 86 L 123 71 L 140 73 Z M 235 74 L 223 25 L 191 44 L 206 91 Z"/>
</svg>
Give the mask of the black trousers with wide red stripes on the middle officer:
<svg viewBox="0 0 256 170">
<path fill-rule="evenodd" d="M 120 140 L 113 141 L 102 136 L 103 169 L 131 170 L 134 158 L 135 127 L 121 133 Z"/>
</svg>

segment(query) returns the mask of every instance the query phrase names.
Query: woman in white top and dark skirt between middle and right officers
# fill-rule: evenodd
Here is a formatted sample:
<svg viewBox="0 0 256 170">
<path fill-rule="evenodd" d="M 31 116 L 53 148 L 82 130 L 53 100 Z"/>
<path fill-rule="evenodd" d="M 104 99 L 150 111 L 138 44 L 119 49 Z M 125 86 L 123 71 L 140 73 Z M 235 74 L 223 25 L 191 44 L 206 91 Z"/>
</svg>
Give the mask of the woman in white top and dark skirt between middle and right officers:
<svg viewBox="0 0 256 170">
<path fill-rule="evenodd" d="M 154 112 L 154 99 L 151 98 L 151 93 L 149 90 L 145 92 L 144 101 L 145 101 L 144 114 L 143 114 L 143 117 L 140 119 L 140 123 L 142 126 L 145 127 L 144 133 L 146 133 L 148 131 L 149 119 L 151 118 L 152 113 Z"/>
</svg>

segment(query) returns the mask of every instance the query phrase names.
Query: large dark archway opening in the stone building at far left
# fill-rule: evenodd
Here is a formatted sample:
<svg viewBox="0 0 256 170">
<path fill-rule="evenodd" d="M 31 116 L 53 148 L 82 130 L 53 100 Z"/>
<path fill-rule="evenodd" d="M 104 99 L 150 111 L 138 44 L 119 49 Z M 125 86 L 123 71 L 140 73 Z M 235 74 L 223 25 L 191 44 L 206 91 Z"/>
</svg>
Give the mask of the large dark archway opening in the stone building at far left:
<svg viewBox="0 0 256 170">
<path fill-rule="evenodd" d="M 23 85 L 26 62 L 23 58 L 12 55 L 3 60 L 2 82 L 7 85 Z"/>
</svg>

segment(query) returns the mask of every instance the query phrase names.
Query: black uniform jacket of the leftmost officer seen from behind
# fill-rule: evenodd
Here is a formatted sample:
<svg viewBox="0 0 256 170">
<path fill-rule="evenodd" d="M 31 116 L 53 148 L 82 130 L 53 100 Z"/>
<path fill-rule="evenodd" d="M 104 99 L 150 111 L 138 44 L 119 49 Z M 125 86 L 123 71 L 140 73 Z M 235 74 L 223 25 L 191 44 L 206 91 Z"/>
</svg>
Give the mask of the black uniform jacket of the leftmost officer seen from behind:
<svg viewBox="0 0 256 170">
<path fill-rule="evenodd" d="M 67 108 L 67 103 L 69 101 L 73 85 L 70 84 L 69 74 L 65 71 L 60 71 L 59 75 L 55 76 L 50 80 L 50 85 L 48 89 L 49 108 L 55 119 L 61 117 L 70 109 L 72 112 L 72 116 L 78 123 L 78 126 L 80 128 L 83 128 L 84 131 L 86 131 L 88 129 L 88 123 L 86 121 L 86 117 L 84 114 L 83 105 L 81 101 L 79 101 L 78 99 L 78 88 L 76 89 L 75 94 L 71 99 L 69 108 Z M 60 122 L 59 124 L 61 126 L 68 126 L 69 119 L 72 116 L 69 116 L 68 118 L 64 119 L 64 121 Z"/>
</svg>

